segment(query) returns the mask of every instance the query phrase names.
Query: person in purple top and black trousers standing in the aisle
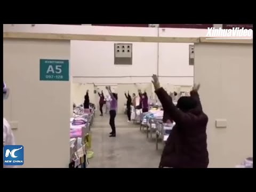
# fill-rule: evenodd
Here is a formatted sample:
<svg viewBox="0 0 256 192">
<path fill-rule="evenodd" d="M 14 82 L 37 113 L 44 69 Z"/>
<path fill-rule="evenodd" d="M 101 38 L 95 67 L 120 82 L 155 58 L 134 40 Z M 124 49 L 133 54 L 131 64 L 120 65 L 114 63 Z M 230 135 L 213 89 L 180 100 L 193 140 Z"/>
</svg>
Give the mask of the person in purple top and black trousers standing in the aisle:
<svg viewBox="0 0 256 192">
<path fill-rule="evenodd" d="M 106 86 L 106 89 L 108 90 L 108 93 L 111 97 L 110 101 L 110 118 L 109 118 L 109 125 L 111 126 L 111 132 L 109 133 L 109 137 L 116 137 L 116 126 L 115 126 L 115 117 L 116 117 L 116 110 L 117 110 L 117 94 L 112 93 L 110 86 Z"/>
</svg>

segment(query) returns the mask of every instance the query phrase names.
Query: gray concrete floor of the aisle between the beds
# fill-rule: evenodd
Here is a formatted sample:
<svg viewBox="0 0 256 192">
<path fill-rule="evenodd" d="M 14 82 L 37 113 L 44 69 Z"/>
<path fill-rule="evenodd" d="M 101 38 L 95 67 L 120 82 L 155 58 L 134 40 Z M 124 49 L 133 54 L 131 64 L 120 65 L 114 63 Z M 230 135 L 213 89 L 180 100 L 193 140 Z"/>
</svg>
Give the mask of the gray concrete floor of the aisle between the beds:
<svg viewBox="0 0 256 192">
<path fill-rule="evenodd" d="M 92 132 L 94 157 L 90 168 L 156 168 L 162 153 L 162 145 L 155 149 L 155 140 L 147 139 L 139 125 L 127 123 L 127 116 L 116 116 L 116 138 L 110 138 L 109 114 L 95 115 Z M 154 138 L 154 135 L 153 135 Z"/>
</svg>

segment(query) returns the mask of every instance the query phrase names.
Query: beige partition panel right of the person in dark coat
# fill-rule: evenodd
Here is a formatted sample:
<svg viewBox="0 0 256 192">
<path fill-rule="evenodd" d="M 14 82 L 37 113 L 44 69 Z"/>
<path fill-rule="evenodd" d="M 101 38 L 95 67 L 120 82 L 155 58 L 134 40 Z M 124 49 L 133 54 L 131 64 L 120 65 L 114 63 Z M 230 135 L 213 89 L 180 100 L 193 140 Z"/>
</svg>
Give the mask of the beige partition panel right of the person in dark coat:
<svg viewBox="0 0 256 192">
<path fill-rule="evenodd" d="M 194 78 L 209 117 L 209 167 L 235 167 L 253 155 L 252 50 L 252 44 L 195 44 Z"/>
</svg>

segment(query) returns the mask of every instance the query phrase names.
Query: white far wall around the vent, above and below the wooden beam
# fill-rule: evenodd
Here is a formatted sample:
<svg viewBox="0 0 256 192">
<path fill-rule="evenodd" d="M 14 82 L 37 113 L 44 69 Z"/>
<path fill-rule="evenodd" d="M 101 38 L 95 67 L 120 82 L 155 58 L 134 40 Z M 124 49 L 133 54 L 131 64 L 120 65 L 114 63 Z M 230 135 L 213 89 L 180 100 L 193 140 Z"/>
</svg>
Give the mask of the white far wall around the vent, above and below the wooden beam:
<svg viewBox="0 0 256 192">
<path fill-rule="evenodd" d="M 63 26 L 63 25 L 4 25 L 4 31 L 31 33 L 96 34 L 157 36 L 158 28 Z M 199 37 L 206 29 L 159 29 L 159 36 Z M 71 41 L 71 63 L 74 82 L 80 83 L 150 83 L 157 74 L 163 83 L 193 84 L 193 66 L 188 65 L 187 43 L 133 43 L 133 65 L 114 65 L 115 42 Z M 82 76 L 79 78 L 79 76 Z M 87 76 L 85 78 L 85 76 Z M 117 77 L 118 76 L 118 77 Z M 121 77 L 122 76 L 122 77 Z M 126 76 L 126 77 L 124 77 Z M 128 77 L 127 77 L 128 76 Z M 133 76 L 133 77 L 129 77 Z M 140 76 L 140 77 L 134 77 Z M 145 77 L 146 76 L 146 77 Z"/>
</svg>

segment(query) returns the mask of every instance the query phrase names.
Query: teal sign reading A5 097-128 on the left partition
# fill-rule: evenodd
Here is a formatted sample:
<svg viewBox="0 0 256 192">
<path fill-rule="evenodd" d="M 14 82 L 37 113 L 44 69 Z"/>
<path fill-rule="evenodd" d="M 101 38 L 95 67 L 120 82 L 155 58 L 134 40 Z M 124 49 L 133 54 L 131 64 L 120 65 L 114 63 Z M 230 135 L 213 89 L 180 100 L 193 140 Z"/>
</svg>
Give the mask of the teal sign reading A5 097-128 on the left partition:
<svg viewBox="0 0 256 192">
<path fill-rule="evenodd" d="M 69 81 L 69 61 L 40 59 L 40 81 Z"/>
</svg>

